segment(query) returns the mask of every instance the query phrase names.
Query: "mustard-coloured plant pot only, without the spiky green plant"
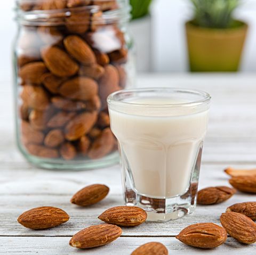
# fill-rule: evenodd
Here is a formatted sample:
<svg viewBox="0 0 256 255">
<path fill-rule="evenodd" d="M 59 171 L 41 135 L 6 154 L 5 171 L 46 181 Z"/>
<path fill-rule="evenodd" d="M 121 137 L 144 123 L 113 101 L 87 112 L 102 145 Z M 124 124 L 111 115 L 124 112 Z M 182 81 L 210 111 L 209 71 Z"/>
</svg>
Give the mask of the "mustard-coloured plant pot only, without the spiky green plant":
<svg viewBox="0 0 256 255">
<path fill-rule="evenodd" d="M 247 24 L 228 29 L 202 28 L 186 23 L 190 71 L 234 72 L 239 68 Z"/>
</svg>

